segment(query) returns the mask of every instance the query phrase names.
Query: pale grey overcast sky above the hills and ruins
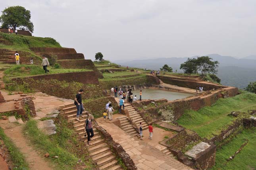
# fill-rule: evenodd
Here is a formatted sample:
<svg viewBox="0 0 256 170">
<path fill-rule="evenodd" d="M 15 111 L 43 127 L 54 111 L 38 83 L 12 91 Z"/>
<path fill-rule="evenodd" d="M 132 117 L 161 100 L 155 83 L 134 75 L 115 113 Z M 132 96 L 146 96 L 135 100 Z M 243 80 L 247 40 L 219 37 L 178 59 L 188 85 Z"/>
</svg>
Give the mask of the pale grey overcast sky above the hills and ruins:
<svg viewBox="0 0 256 170">
<path fill-rule="evenodd" d="M 1 0 L 31 11 L 34 36 L 85 58 L 256 54 L 256 0 Z"/>
</svg>

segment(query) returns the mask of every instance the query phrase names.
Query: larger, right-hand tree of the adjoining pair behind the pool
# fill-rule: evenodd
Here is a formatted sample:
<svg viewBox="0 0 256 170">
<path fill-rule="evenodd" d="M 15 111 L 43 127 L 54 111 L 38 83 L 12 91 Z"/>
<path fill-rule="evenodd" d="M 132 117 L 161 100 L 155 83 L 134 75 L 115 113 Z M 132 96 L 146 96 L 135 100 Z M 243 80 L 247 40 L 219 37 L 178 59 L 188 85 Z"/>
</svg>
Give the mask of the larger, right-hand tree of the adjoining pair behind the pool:
<svg viewBox="0 0 256 170">
<path fill-rule="evenodd" d="M 201 72 L 201 76 L 204 77 L 207 73 L 217 74 L 219 67 L 219 61 L 212 61 L 211 57 L 202 56 L 197 57 L 195 60 L 197 70 Z"/>
</svg>

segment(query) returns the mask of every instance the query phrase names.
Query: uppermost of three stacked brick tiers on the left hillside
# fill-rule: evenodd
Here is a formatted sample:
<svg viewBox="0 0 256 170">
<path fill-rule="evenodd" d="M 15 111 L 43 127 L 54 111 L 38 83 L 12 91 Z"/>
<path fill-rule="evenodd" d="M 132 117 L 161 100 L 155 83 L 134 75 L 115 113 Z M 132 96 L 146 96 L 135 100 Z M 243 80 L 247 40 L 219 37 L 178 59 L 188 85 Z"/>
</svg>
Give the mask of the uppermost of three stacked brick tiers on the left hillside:
<svg viewBox="0 0 256 170">
<path fill-rule="evenodd" d="M 31 47 L 35 53 L 77 53 L 74 48 Z"/>
</svg>

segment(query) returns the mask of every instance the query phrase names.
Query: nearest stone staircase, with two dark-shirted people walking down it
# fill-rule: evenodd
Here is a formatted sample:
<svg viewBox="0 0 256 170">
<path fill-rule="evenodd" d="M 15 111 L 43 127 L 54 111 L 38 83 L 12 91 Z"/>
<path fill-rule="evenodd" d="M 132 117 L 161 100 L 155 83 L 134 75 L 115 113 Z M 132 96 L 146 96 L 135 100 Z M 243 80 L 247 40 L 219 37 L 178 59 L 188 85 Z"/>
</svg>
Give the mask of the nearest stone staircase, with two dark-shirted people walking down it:
<svg viewBox="0 0 256 170">
<path fill-rule="evenodd" d="M 85 113 L 83 113 L 83 118 L 80 117 L 79 122 L 76 120 L 77 108 L 73 103 L 66 105 L 66 107 L 63 108 L 63 111 L 67 116 L 68 121 L 73 122 L 78 137 L 84 139 L 84 142 L 87 143 L 87 137 L 85 137 L 84 132 L 84 124 L 87 118 Z M 92 160 L 97 163 L 99 170 L 122 170 L 104 138 L 102 138 L 95 128 L 93 131 L 94 137 L 92 138 L 92 141 L 90 141 L 92 145 L 87 145 L 87 149 Z"/>
</svg>

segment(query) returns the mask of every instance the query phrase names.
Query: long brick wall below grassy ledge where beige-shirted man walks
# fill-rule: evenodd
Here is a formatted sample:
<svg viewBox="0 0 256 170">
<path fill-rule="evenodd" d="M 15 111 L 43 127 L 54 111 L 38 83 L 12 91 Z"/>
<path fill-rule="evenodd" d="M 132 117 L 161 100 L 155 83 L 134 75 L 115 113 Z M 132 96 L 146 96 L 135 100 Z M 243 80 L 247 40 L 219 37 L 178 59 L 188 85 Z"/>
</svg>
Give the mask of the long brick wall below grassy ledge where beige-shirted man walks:
<svg viewBox="0 0 256 170">
<path fill-rule="evenodd" d="M 33 80 L 56 79 L 59 81 L 66 81 L 66 82 L 81 82 L 83 84 L 99 84 L 98 73 L 96 71 L 47 74 L 47 75 L 40 75 L 40 76 L 30 76 L 27 78 L 13 78 L 12 80 L 18 83 L 22 83 L 23 81 L 29 82 L 30 79 L 33 79 Z"/>
</svg>

